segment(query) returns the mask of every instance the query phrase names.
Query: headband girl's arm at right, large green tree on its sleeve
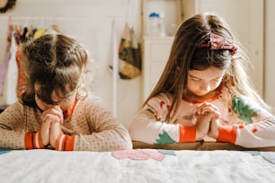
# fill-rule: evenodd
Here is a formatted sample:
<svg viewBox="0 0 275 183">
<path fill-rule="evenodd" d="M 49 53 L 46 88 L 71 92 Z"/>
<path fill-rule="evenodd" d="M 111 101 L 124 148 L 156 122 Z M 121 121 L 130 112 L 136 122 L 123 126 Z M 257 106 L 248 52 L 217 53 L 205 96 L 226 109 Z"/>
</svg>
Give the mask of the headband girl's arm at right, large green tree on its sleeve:
<svg viewBox="0 0 275 183">
<path fill-rule="evenodd" d="M 217 142 L 228 142 L 244 147 L 275 146 L 275 118 L 265 109 L 246 98 L 234 98 L 232 110 L 240 118 L 240 124 L 222 126 L 212 121 L 209 134 Z M 246 123 L 246 125 L 242 124 Z"/>
</svg>

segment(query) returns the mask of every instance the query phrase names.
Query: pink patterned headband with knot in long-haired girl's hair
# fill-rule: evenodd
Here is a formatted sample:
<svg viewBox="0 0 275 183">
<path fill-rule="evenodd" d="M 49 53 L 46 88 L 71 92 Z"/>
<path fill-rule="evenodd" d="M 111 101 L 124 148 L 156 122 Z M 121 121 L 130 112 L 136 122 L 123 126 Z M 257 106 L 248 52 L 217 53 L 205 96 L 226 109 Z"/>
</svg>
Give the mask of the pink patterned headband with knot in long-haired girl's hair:
<svg viewBox="0 0 275 183">
<path fill-rule="evenodd" d="M 211 50 L 217 50 L 217 49 L 228 49 L 231 50 L 231 55 L 234 56 L 237 47 L 234 43 L 226 39 L 225 37 L 219 36 L 217 34 L 211 33 L 210 34 L 210 42 L 200 45 L 198 48 L 207 48 L 209 47 Z"/>
</svg>

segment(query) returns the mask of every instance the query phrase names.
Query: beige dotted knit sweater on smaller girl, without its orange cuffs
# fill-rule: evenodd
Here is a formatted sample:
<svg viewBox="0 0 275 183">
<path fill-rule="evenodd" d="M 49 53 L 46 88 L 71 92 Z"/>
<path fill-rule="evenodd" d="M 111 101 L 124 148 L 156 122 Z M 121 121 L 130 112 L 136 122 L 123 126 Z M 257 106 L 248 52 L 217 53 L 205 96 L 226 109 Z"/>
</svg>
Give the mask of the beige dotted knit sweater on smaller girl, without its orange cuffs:
<svg viewBox="0 0 275 183">
<path fill-rule="evenodd" d="M 0 148 L 25 149 L 27 132 L 37 132 L 41 125 L 40 109 L 17 101 L 0 114 Z M 65 135 L 75 135 L 75 151 L 114 151 L 131 149 L 127 129 L 118 123 L 101 100 L 88 95 L 78 100 L 72 115 L 61 126 Z"/>
</svg>

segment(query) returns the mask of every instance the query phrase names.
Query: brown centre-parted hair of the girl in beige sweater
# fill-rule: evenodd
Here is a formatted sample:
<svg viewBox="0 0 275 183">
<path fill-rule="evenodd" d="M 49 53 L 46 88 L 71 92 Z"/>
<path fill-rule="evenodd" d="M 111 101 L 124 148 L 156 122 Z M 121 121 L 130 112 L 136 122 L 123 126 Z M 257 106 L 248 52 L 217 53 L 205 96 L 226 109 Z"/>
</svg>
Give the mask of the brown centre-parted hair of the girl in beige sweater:
<svg viewBox="0 0 275 183">
<path fill-rule="evenodd" d="M 75 39 L 62 34 L 45 34 L 22 45 L 23 71 L 26 91 L 21 100 L 36 106 L 34 96 L 52 104 L 51 93 L 58 91 L 65 97 L 78 86 L 88 63 L 88 54 Z M 35 93 L 34 84 L 40 85 Z"/>
</svg>

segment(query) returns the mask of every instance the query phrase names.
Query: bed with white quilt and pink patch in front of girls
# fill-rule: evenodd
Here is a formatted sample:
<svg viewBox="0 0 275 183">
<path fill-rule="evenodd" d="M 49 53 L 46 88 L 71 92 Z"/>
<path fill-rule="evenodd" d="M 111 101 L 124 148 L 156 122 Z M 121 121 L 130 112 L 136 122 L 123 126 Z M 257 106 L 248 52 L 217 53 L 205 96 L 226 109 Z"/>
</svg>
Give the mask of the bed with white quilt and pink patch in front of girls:
<svg viewBox="0 0 275 183">
<path fill-rule="evenodd" d="M 101 153 L 1 149 L 0 182 L 275 182 L 273 148 L 133 144 L 130 151 Z M 218 145 L 227 149 L 207 150 Z"/>
</svg>

